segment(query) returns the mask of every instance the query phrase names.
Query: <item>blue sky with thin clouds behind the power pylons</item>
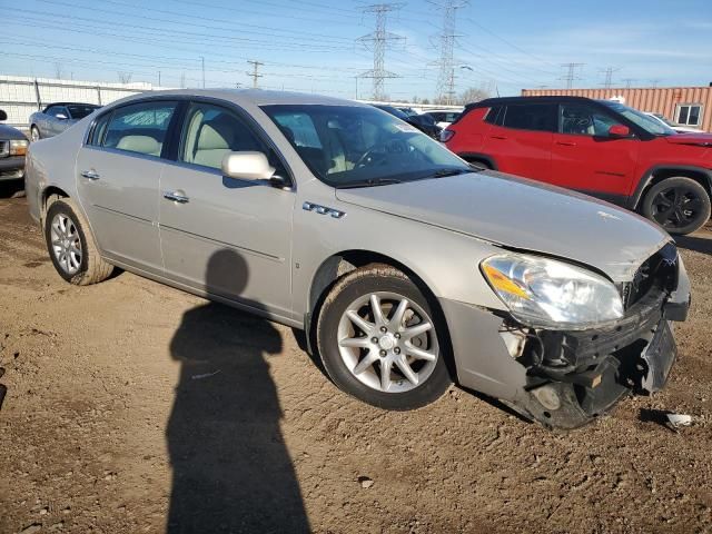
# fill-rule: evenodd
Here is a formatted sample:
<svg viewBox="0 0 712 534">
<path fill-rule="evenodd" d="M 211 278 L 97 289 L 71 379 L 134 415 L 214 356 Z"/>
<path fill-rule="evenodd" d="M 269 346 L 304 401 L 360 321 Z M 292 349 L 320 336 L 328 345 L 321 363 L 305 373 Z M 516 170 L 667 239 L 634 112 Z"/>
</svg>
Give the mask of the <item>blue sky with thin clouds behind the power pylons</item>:
<svg viewBox="0 0 712 534">
<path fill-rule="evenodd" d="M 437 0 L 436 0 L 437 1 Z M 179 87 L 260 87 L 353 98 L 373 52 L 357 38 L 374 29 L 367 2 L 352 0 L 0 0 L 0 75 L 131 81 Z M 436 91 L 442 12 L 426 0 L 387 19 L 405 37 L 386 52 L 394 99 Z M 712 82 L 712 0 L 471 0 L 457 11 L 456 90 L 501 95 L 563 87 L 561 63 L 584 63 L 574 87 Z M 160 73 L 160 75 L 159 75 Z M 627 81 L 630 80 L 630 81 Z"/>
</svg>

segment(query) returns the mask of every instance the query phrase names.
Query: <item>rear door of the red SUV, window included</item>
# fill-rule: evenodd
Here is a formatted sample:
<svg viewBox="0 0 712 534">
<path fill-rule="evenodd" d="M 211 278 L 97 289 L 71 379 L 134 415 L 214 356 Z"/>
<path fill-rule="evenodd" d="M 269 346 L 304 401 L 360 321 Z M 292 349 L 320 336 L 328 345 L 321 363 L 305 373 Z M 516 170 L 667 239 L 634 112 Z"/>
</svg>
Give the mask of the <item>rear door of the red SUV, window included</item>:
<svg viewBox="0 0 712 534">
<path fill-rule="evenodd" d="M 498 170 L 550 181 L 551 142 L 556 127 L 554 103 L 511 103 L 487 115 L 484 152 Z"/>
</svg>

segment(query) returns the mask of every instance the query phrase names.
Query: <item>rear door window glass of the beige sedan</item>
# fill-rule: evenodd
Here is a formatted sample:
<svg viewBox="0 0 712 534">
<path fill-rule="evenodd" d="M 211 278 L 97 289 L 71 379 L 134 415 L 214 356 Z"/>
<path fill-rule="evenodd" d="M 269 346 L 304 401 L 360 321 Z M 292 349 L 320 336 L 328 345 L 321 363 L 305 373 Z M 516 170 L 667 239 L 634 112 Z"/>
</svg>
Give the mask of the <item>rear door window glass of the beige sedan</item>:
<svg viewBox="0 0 712 534">
<path fill-rule="evenodd" d="M 156 101 L 122 106 L 111 113 L 101 146 L 160 157 L 176 102 Z"/>
</svg>

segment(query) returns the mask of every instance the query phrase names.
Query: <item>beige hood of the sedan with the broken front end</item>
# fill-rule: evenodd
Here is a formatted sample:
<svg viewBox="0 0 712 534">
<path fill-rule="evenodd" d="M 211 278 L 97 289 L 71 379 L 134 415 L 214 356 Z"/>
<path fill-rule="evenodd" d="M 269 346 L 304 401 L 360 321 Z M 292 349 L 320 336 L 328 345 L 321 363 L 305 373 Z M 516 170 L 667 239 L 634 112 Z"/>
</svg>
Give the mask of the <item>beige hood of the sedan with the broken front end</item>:
<svg viewBox="0 0 712 534">
<path fill-rule="evenodd" d="M 584 195 L 500 172 L 337 189 L 339 200 L 508 248 L 590 265 L 616 283 L 670 240 L 642 217 Z"/>
</svg>

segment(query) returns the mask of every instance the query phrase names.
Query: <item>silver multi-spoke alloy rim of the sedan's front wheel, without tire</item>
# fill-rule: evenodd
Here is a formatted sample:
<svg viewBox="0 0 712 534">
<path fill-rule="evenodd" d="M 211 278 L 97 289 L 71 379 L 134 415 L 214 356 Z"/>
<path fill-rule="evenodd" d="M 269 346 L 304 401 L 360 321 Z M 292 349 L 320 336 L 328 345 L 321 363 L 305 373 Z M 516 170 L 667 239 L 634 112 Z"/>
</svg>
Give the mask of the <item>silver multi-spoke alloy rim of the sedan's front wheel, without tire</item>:
<svg viewBox="0 0 712 534">
<path fill-rule="evenodd" d="M 354 300 L 338 325 L 338 349 L 360 383 L 404 393 L 425 383 L 439 357 L 435 323 L 413 300 L 388 291 Z"/>
</svg>

